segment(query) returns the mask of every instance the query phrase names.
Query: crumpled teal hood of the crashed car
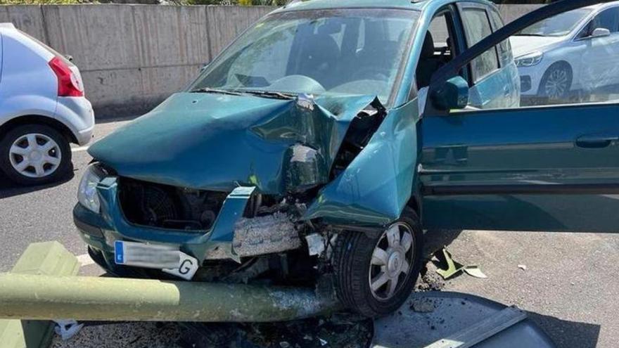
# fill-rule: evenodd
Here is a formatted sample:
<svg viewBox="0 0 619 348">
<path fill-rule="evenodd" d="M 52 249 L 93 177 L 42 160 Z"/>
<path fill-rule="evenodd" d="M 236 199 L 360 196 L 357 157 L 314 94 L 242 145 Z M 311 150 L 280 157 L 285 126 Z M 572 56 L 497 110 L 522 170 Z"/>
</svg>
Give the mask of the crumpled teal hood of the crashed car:
<svg viewBox="0 0 619 348">
<path fill-rule="evenodd" d="M 374 96 L 293 100 L 179 93 L 88 150 L 120 176 L 264 194 L 328 182 L 350 122 Z"/>
</svg>

